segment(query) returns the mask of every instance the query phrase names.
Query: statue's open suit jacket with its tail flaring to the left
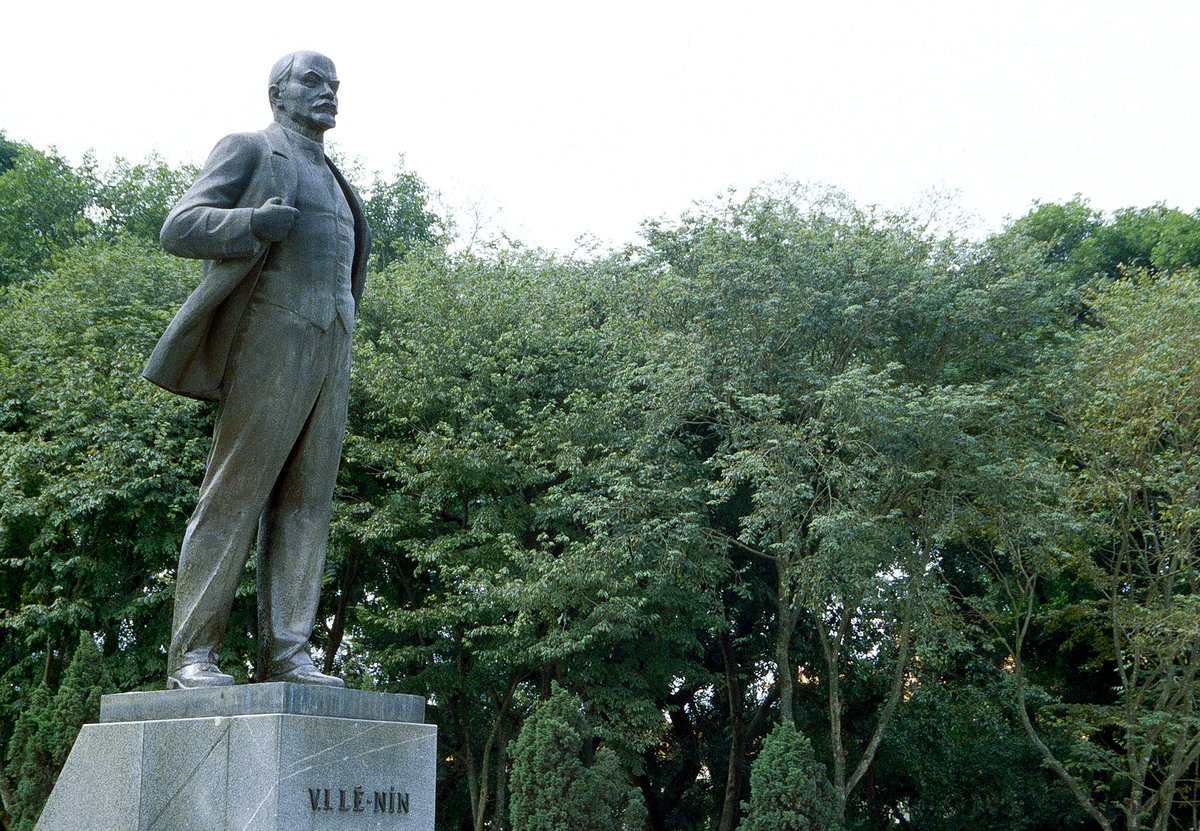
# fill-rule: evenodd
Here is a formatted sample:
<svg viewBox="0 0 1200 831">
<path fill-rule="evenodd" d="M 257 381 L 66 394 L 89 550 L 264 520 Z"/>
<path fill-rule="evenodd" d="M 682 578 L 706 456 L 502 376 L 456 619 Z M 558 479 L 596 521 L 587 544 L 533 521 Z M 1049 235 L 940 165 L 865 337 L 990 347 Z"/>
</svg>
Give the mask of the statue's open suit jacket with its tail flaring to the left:
<svg viewBox="0 0 1200 831">
<path fill-rule="evenodd" d="M 254 237 L 250 217 L 271 197 L 295 205 L 299 173 L 292 153 L 277 124 L 226 136 L 168 214 L 158 237 L 162 246 L 180 257 L 203 259 L 203 279 L 150 354 L 142 371 L 146 379 L 188 397 L 220 400 L 229 349 L 270 247 Z M 371 232 L 358 193 L 332 162 L 326 163 L 354 215 L 350 292 L 358 306 Z"/>
</svg>

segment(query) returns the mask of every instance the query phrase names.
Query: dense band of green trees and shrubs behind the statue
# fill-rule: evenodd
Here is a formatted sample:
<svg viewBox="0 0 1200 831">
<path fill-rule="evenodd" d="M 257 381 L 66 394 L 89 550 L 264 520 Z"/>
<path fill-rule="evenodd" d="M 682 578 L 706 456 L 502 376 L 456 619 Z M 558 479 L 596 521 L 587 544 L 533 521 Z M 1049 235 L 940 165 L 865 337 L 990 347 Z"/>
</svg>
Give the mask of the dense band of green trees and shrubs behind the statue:
<svg viewBox="0 0 1200 831">
<path fill-rule="evenodd" d="M 162 683 L 212 408 L 139 371 L 193 173 L 0 134 L 6 829 L 94 694 Z M 1200 215 L 971 243 L 776 185 L 564 259 L 362 184 L 313 642 L 430 698 L 439 829 L 1192 826 Z"/>
</svg>

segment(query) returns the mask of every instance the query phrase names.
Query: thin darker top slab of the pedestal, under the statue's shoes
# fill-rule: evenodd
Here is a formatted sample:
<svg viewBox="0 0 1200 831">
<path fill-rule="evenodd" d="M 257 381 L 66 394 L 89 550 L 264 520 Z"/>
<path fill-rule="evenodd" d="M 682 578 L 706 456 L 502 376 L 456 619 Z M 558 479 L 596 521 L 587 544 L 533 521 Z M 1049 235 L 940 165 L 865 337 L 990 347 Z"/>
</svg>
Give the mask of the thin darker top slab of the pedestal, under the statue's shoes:
<svg viewBox="0 0 1200 831">
<path fill-rule="evenodd" d="M 420 695 L 281 681 L 236 687 L 118 693 L 104 695 L 100 700 L 101 722 L 145 722 L 259 713 L 420 724 L 425 721 L 425 699 Z"/>
</svg>

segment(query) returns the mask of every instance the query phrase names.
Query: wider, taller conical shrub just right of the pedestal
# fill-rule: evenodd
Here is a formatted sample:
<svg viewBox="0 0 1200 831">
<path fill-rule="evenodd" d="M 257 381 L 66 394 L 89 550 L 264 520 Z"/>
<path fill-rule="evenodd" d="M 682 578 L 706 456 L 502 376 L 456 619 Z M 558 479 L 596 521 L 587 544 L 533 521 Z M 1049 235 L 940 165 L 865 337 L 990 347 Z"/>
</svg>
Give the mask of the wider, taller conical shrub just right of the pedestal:
<svg viewBox="0 0 1200 831">
<path fill-rule="evenodd" d="M 641 830 L 641 795 L 617 755 L 593 740 L 583 703 L 554 684 L 512 749 L 514 831 Z"/>
</svg>

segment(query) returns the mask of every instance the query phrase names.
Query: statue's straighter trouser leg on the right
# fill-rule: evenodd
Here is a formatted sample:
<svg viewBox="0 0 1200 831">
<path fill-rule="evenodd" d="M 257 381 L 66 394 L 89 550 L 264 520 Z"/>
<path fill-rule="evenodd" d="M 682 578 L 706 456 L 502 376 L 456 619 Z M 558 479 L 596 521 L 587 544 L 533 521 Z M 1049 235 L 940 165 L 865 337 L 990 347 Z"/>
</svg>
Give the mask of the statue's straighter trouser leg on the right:
<svg viewBox="0 0 1200 831">
<path fill-rule="evenodd" d="M 334 322 L 313 373 L 320 390 L 276 483 L 258 534 L 258 677 L 312 666 L 308 639 L 317 618 L 329 544 L 337 466 L 346 435 L 350 335 Z"/>
</svg>

